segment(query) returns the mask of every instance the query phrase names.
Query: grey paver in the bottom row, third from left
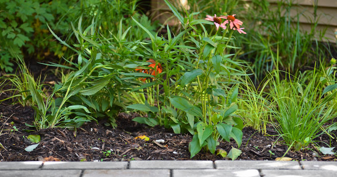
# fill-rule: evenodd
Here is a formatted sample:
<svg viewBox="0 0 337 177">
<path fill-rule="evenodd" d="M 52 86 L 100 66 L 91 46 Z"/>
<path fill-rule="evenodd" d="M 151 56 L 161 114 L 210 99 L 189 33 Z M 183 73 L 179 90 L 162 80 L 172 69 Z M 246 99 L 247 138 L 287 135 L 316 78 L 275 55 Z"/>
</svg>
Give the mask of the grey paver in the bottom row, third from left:
<svg viewBox="0 0 337 177">
<path fill-rule="evenodd" d="M 173 170 L 172 177 L 260 177 L 257 170 Z"/>
</svg>

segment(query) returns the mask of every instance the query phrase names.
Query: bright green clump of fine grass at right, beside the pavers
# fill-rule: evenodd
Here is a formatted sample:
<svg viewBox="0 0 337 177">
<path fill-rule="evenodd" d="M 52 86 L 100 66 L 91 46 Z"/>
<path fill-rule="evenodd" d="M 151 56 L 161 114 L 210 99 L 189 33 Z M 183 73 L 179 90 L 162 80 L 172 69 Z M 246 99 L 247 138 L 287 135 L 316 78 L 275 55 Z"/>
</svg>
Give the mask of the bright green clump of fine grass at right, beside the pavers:
<svg viewBox="0 0 337 177">
<path fill-rule="evenodd" d="M 290 78 L 290 74 L 288 75 Z M 309 80 L 272 80 L 271 93 L 275 104 L 273 114 L 278 122 L 275 127 L 285 143 L 296 151 L 314 142 L 314 139 L 327 133 L 325 124 L 336 116 L 335 106 L 329 102 L 336 97 L 336 91 L 323 97 L 324 80 L 317 80 L 314 72 Z"/>
</svg>

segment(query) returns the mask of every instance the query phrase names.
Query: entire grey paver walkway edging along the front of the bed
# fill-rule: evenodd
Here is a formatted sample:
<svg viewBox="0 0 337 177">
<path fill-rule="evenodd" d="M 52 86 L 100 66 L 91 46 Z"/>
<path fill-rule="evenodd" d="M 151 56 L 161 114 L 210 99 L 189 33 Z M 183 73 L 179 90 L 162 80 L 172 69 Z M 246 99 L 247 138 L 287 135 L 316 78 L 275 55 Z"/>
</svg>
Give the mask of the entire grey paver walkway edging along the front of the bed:
<svg viewBox="0 0 337 177">
<path fill-rule="evenodd" d="M 0 162 L 0 177 L 337 177 L 337 162 Z"/>
</svg>

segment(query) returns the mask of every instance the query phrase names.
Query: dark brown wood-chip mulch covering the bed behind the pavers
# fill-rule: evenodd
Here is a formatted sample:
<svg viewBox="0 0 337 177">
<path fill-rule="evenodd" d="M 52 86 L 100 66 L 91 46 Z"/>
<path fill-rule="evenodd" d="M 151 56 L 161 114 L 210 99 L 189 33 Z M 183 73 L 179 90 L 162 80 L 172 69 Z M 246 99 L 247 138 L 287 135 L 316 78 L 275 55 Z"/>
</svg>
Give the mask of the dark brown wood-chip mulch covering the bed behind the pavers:
<svg viewBox="0 0 337 177">
<path fill-rule="evenodd" d="M 3 99 L 8 95 L 0 95 Z M 118 127 L 112 129 L 102 123 L 89 122 L 76 131 L 64 128 L 55 128 L 37 131 L 27 127 L 25 123 L 32 124 L 34 112 L 30 107 L 12 105 L 11 101 L 0 104 L 0 161 L 36 161 L 46 157 L 59 158 L 61 161 L 129 161 L 129 160 L 189 160 L 188 143 L 190 134 L 174 134 L 171 130 L 160 126 L 148 127 L 132 121 L 132 115 L 119 114 Z M 17 128 L 15 129 L 14 126 Z M 28 131 L 33 130 L 33 131 Z M 239 148 L 242 155 L 239 160 L 275 160 L 282 157 L 287 151 L 287 146 L 272 128 L 268 129 L 269 136 L 263 136 L 250 127 L 243 129 L 243 143 Z M 337 133 L 336 131 L 334 132 Z M 40 145 L 32 152 L 26 152 L 25 147 L 33 144 L 26 137 L 30 134 L 40 134 Z M 149 141 L 140 138 L 146 135 Z M 164 139 L 164 143 L 155 143 L 155 140 Z M 327 135 L 317 138 L 319 145 L 324 143 L 337 146 L 336 139 L 330 139 Z M 237 147 L 234 140 L 221 142 L 217 148 L 227 152 Z M 107 153 L 108 151 L 111 153 Z M 295 160 L 309 161 L 336 161 L 336 156 L 315 156 L 318 151 L 312 145 L 301 152 L 289 151 L 286 157 Z M 105 153 L 104 153 L 105 152 Z M 271 153 L 270 153 L 271 152 Z M 209 152 L 200 152 L 192 160 L 221 160 L 219 155 Z"/>
</svg>

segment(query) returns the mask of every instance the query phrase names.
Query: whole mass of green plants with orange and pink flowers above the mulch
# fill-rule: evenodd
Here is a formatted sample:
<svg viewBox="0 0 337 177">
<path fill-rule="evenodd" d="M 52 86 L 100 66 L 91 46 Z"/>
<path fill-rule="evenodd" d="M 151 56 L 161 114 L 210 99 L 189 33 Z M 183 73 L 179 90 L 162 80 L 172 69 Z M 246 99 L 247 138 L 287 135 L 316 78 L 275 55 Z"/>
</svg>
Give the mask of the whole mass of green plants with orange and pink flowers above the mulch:
<svg viewBox="0 0 337 177">
<path fill-rule="evenodd" d="M 13 22 L 17 18 L 8 17 L 4 24 L 13 23 L 8 34 L 16 31 L 13 39 L 18 39 L 6 46 L 18 48 L 5 50 L 18 59 L 19 73 L 4 76 L 12 85 L 6 91 L 14 93 L 6 99 L 16 98 L 31 106 L 35 121 L 29 126 L 37 129 L 67 127 L 76 131 L 87 121 L 102 119 L 105 125 L 116 127 L 118 113 L 137 112 L 136 122 L 192 134 L 191 158 L 201 150 L 237 158 L 239 149 L 233 147 L 227 153 L 217 146 L 222 140 L 233 139 L 240 148 L 244 126 L 266 134 L 267 125 L 272 125 L 288 150 L 316 145 L 315 138 L 324 133 L 336 137 L 332 131 L 337 125 L 331 123 L 337 115 L 336 59 L 327 65 L 318 42 L 313 47 L 315 27 L 307 34 L 299 23 L 290 24 L 294 18 L 281 12 L 286 8 L 290 13 L 291 5 L 281 0 L 273 13 L 266 0 L 253 0 L 253 10 L 241 13 L 240 0 L 190 0 L 188 8 L 165 2 L 179 25 L 162 25 L 160 29 L 167 31 L 162 35 L 155 31 L 157 23 L 137 11 L 137 0 L 80 0 L 74 3 L 76 8 L 66 10 L 78 18 L 64 16 L 71 19 L 71 32 L 59 32 L 62 28 L 55 19 L 45 17 L 41 26 L 49 29 L 60 43 L 57 45 L 71 51 L 58 63 L 44 63 L 62 71 L 60 82 L 50 90 L 30 74 L 18 52 L 19 47 L 28 45 L 25 41 L 33 39 L 28 35 L 30 30 L 25 33 L 29 38 L 18 46 L 21 31 Z M 68 3 L 72 1 L 65 5 Z M 50 10 L 43 14 L 54 14 Z M 32 18 L 26 19 L 27 29 L 34 26 L 34 19 L 41 21 L 43 14 L 26 14 Z M 57 24 L 61 21 L 67 22 L 64 19 Z M 263 23 L 258 25 L 258 21 Z M 255 26 L 261 28 L 256 30 Z M 8 34 L 2 37 L 8 38 Z M 312 50 L 306 52 L 308 49 Z M 310 63 L 305 59 L 308 56 L 321 63 L 316 66 L 314 62 L 311 70 L 298 70 Z M 245 58 L 253 60 L 243 61 Z M 110 151 L 102 153 L 111 155 Z"/>
</svg>

